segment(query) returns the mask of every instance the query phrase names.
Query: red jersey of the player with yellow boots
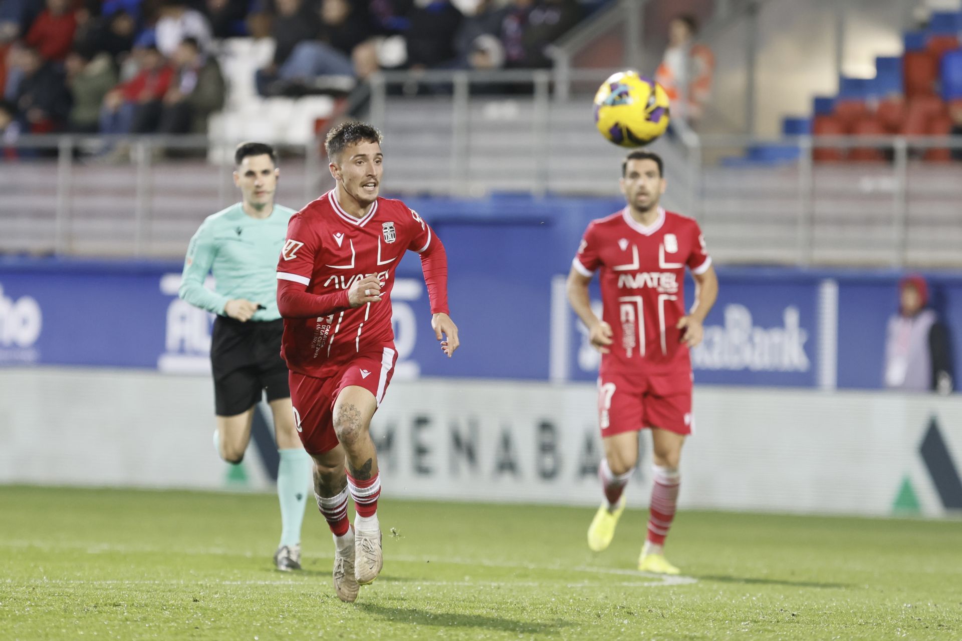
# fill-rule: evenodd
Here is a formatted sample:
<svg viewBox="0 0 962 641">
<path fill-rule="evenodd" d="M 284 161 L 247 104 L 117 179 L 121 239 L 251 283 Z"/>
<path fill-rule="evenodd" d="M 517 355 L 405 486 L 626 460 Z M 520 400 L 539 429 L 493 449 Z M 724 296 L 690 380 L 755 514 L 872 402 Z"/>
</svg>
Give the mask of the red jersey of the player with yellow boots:
<svg viewBox="0 0 962 641">
<path fill-rule="evenodd" d="M 659 208 L 645 227 L 625 208 L 592 221 L 572 265 L 586 277 L 600 270 L 602 320 L 614 333 L 601 374 L 691 369 L 675 329 L 685 315 L 685 266 L 703 274 L 711 263 L 693 218 Z"/>
</svg>

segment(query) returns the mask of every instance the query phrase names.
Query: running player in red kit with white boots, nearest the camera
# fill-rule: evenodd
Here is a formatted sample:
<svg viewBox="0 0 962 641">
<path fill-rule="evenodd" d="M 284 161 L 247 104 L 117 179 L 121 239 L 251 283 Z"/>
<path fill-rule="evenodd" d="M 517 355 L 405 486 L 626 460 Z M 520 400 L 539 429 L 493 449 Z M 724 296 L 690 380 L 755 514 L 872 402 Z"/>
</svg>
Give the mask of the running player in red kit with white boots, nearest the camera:
<svg viewBox="0 0 962 641">
<path fill-rule="evenodd" d="M 381 481 L 368 428 L 397 359 L 391 291 L 408 250 L 420 254 L 431 327 L 448 357 L 459 341 L 448 316 L 441 240 L 404 203 L 378 198 L 380 132 L 346 122 L 324 146 L 337 185 L 291 216 L 277 265 L 277 306 L 294 420 L 314 458 L 317 507 L 334 533 L 334 587 L 342 601 L 353 602 L 359 584 L 376 579 L 384 562 Z M 348 493 L 357 512 L 353 528 Z"/>
</svg>

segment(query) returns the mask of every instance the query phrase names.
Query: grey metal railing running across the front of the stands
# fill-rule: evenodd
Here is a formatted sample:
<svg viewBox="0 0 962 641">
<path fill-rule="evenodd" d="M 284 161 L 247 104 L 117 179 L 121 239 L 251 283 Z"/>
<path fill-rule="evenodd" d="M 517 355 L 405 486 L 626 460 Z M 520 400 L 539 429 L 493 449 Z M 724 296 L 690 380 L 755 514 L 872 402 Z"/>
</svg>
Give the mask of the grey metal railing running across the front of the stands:
<svg viewBox="0 0 962 641">
<path fill-rule="evenodd" d="M 617 197 L 627 150 L 591 120 L 605 73 L 377 76 L 369 114 L 386 136 L 386 190 Z M 236 200 L 236 142 L 24 136 L 23 158 L 0 163 L 0 251 L 182 255 L 203 217 Z M 128 152 L 109 163 L 105 144 Z M 666 206 L 696 216 L 722 261 L 962 266 L 962 162 L 946 151 L 962 154 L 962 137 L 678 132 L 653 148 L 666 160 Z M 881 153 L 820 161 L 832 149 Z M 296 207 L 331 185 L 318 142 L 281 151 L 279 202 Z"/>
</svg>

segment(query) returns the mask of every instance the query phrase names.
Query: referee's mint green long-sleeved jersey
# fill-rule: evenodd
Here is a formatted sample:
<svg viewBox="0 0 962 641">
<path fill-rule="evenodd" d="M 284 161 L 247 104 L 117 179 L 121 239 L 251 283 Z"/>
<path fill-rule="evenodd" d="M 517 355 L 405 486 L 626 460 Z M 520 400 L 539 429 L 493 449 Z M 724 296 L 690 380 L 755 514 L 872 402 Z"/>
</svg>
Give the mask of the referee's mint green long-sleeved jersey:
<svg viewBox="0 0 962 641">
<path fill-rule="evenodd" d="M 251 320 L 281 317 L 277 310 L 277 260 L 295 213 L 280 205 L 266 218 L 254 218 L 241 203 L 208 216 L 190 238 L 180 297 L 198 308 L 225 315 L 227 301 L 244 298 L 260 303 Z M 204 286 L 214 274 L 215 290 Z"/>
</svg>

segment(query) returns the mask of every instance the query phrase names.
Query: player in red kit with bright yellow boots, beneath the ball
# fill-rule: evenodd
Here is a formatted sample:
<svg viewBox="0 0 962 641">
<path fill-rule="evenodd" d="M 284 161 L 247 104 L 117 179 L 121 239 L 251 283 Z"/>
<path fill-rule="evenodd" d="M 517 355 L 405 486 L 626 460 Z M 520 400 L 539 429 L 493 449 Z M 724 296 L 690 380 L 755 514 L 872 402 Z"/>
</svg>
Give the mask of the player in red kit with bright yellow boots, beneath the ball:
<svg viewBox="0 0 962 641">
<path fill-rule="evenodd" d="M 666 211 L 660 157 L 628 154 L 621 165 L 627 206 L 592 221 L 571 263 L 568 298 L 601 352 L 598 422 L 604 444 L 599 476 L 605 500 L 588 530 L 595 552 L 608 547 L 624 510 L 623 490 L 638 462 L 638 431 L 651 429 L 654 487 L 640 570 L 678 574 L 663 549 L 678 498 L 678 461 L 692 415 L 692 362 L 701 324 L 718 297 L 718 278 L 692 218 Z M 685 313 L 685 267 L 695 279 L 695 305 Z M 602 318 L 588 294 L 595 271 Z"/>
</svg>

